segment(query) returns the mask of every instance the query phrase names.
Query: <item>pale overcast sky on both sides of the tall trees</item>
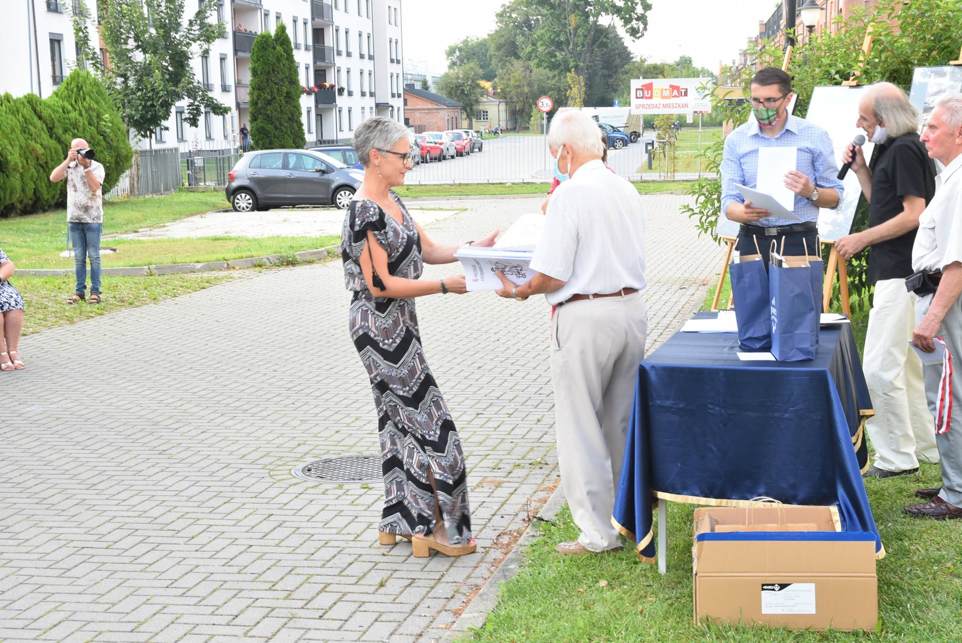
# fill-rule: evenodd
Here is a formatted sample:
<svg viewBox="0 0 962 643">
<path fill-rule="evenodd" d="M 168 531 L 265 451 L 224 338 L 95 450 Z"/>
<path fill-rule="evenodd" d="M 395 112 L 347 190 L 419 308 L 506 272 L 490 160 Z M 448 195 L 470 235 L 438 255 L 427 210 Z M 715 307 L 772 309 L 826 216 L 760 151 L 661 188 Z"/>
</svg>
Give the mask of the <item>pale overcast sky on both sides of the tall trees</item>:
<svg viewBox="0 0 962 643">
<path fill-rule="evenodd" d="M 674 61 L 687 55 L 698 66 L 718 71 L 731 64 L 747 39 L 767 20 L 775 0 L 650 0 L 646 35 L 627 42 L 636 55 Z M 468 36 L 494 29 L 494 14 L 505 0 L 403 0 L 405 58 L 433 71 L 447 67 L 444 49 Z"/>
</svg>

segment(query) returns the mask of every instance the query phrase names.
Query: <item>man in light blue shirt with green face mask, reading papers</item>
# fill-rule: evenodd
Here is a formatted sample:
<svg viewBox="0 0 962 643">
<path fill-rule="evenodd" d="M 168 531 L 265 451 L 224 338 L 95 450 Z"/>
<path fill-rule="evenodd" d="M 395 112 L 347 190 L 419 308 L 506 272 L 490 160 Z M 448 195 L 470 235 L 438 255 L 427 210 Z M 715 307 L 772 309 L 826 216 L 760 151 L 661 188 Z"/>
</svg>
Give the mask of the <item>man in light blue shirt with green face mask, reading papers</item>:
<svg viewBox="0 0 962 643">
<path fill-rule="evenodd" d="M 738 249 L 754 254 L 755 243 L 768 269 L 772 241 L 784 254 L 819 253 L 819 208 L 834 208 L 842 198 L 835 152 L 828 133 L 803 118 L 788 113 L 792 79 L 777 67 L 766 67 L 751 79 L 751 111 L 755 116 L 738 127 L 724 141 L 722 155 L 722 213 L 741 223 Z M 758 179 L 758 150 L 762 147 L 797 148 L 796 169 L 785 175 L 785 186 L 796 194 L 793 213 L 801 219 L 779 219 L 738 192 L 736 184 L 755 188 Z M 753 239 L 754 238 L 754 239 Z M 803 244 L 804 240 L 804 244 Z"/>
</svg>

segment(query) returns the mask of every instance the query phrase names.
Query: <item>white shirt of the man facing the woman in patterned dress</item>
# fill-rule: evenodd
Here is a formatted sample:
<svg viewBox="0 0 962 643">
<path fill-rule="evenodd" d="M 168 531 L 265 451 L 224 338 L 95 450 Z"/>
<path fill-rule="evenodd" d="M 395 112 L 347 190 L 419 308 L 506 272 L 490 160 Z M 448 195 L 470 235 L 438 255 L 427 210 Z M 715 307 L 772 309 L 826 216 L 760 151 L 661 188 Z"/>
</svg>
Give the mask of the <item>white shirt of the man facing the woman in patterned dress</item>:
<svg viewBox="0 0 962 643">
<path fill-rule="evenodd" d="M 599 160 L 578 167 L 551 194 L 531 269 L 566 282 L 544 296 L 552 305 L 645 288 L 641 195 Z"/>
</svg>

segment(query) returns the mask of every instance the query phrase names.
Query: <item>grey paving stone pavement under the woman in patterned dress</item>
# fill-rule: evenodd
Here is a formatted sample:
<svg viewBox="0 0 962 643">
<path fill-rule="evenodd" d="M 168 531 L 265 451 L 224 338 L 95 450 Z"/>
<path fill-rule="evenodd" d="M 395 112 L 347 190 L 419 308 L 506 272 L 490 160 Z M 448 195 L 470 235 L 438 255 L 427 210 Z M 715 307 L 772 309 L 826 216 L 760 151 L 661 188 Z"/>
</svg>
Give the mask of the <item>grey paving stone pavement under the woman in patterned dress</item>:
<svg viewBox="0 0 962 643">
<path fill-rule="evenodd" d="M 645 198 L 650 346 L 722 258 L 677 212 L 683 198 Z M 540 200 L 450 202 L 464 211 L 427 230 L 478 239 Z M 418 301 L 463 436 L 479 553 L 417 559 L 408 543 L 376 544 L 379 484 L 291 475 L 378 452 L 347 304 L 335 261 L 24 338 L 27 369 L 0 373 L 0 640 L 443 634 L 557 479 L 548 309 L 487 293 Z"/>
</svg>

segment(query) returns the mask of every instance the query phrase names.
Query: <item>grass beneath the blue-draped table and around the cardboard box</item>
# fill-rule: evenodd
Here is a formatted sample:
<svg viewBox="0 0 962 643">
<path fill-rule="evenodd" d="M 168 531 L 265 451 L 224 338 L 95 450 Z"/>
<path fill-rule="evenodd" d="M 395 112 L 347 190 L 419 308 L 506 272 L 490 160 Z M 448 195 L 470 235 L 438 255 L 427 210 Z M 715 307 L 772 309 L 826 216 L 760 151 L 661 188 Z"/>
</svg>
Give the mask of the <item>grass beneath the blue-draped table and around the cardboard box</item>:
<svg viewBox="0 0 962 643">
<path fill-rule="evenodd" d="M 727 302 L 727 280 L 722 304 Z M 714 285 L 703 310 L 711 307 Z M 859 350 L 868 315 L 853 314 Z M 501 586 L 494 612 L 469 640 L 482 643 L 843 643 L 962 640 L 962 530 L 958 521 L 902 513 L 919 487 L 937 486 L 938 465 L 919 474 L 869 479 L 866 489 L 886 556 L 878 561 L 879 625 L 874 632 L 759 630 L 696 626 L 692 606 L 695 505 L 668 504 L 668 571 L 639 562 L 632 543 L 620 553 L 564 557 L 553 547 L 577 537 L 567 506 L 524 553 L 519 574 Z M 468 640 L 468 638 L 462 639 Z"/>
</svg>

